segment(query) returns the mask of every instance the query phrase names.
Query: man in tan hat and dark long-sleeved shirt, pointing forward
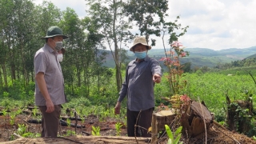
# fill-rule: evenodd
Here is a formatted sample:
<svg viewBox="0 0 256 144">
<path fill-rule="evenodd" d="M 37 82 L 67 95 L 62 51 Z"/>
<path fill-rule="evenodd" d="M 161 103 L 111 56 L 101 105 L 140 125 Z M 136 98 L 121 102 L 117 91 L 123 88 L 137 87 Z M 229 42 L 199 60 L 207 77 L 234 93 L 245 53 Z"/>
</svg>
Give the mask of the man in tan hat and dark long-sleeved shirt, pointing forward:
<svg viewBox="0 0 256 144">
<path fill-rule="evenodd" d="M 147 56 L 145 37 L 134 39 L 130 48 L 137 57 L 126 68 L 126 79 L 119 92 L 118 102 L 114 108 L 115 114 L 120 114 L 121 102 L 127 95 L 127 134 L 134 137 L 134 125 L 137 137 L 150 137 L 147 129 L 151 126 L 154 110 L 154 83 L 161 82 L 162 70 L 159 62 Z M 138 123 L 136 123 L 138 118 Z M 139 127 L 138 127 L 139 126 Z M 142 129 L 141 127 L 145 128 Z"/>
</svg>

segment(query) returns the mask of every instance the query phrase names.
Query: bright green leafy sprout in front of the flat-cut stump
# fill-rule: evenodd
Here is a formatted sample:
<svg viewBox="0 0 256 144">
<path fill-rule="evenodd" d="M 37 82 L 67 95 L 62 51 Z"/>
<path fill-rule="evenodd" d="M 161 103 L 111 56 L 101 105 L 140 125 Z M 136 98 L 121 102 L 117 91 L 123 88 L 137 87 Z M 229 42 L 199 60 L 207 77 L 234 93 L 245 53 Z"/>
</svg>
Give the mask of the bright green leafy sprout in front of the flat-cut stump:
<svg viewBox="0 0 256 144">
<path fill-rule="evenodd" d="M 165 125 L 165 127 L 166 127 L 166 133 L 169 137 L 167 142 L 168 144 L 182 143 L 182 142 L 179 142 L 180 138 L 182 137 L 182 126 L 179 126 L 178 129 L 175 130 L 174 134 L 172 133 L 168 125 Z"/>
</svg>

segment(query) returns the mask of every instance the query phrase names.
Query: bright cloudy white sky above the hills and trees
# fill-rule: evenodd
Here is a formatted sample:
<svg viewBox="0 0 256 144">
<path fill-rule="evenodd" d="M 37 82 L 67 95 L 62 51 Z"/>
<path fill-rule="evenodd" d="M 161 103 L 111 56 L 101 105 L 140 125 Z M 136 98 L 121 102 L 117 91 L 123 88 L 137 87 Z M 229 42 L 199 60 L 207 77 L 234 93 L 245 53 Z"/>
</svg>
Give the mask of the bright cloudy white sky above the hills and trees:
<svg viewBox="0 0 256 144">
<path fill-rule="evenodd" d="M 74 9 L 79 18 L 86 16 L 85 0 L 47 1 L 61 10 Z M 42 0 L 34 3 L 41 4 Z M 255 7 L 255 0 L 169 0 L 167 20 L 174 22 L 179 16 L 178 23 L 189 26 L 186 34 L 178 39 L 186 48 L 242 49 L 256 46 Z M 161 38 L 154 38 L 157 43 L 153 48 L 163 48 Z"/>
</svg>

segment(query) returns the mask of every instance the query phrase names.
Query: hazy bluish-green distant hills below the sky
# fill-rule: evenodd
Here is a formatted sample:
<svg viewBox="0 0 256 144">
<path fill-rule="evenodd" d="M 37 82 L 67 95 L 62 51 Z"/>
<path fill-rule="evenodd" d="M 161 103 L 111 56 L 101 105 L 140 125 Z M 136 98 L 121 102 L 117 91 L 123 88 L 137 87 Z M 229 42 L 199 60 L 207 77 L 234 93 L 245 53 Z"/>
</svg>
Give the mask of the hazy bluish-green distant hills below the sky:
<svg viewBox="0 0 256 144">
<path fill-rule="evenodd" d="M 192 68 L 194 66 L 213 67 L 217 66 L 220 63 L 229 63 L 237 60 L 242 60 L 244 58 L 256 57 L 256 46 L 245 49 L 230 48 L 224 50 L 211 50 L 207 48 L 186 48 L 186 50 L 190 52 L 190 56 L 186 58 L 181 58 L 181 62 L 191 62 Z M 112 55 L 110 54 L 110 51 L 108 53 L 109 55 L 104 65 L 114 67 L 114 60 L 112 58 Z M 129 56 L 128 61 L 135 58 L 133 52 L 128 50 L 127 54 Z M 165 57 L 165 50 L 152 49 L 149 50 L 148 54 L 150 55 L 150 57 L 159 60 L 160 58 Z M 162 62 L 160 63 L 162 64 Z"/>
</svg>

